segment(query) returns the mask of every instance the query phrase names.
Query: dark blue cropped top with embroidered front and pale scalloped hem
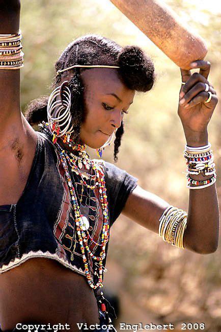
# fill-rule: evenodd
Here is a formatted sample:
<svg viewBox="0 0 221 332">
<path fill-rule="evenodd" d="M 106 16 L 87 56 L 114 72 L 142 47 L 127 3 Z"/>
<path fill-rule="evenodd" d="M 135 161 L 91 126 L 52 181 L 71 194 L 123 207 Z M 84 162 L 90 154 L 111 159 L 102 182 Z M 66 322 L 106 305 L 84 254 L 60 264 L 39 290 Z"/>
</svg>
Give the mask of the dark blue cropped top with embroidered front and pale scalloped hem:
<svg viewBox="0 0 221 332">
<path fill-rule="evenodd" d="M 36 133 L 36 154 L 24 191 L 17 204 L 0 206 L 0 273 L 29 258 L 47 257 L 84 275 L 73 209 L 58 149 L 45 134 Z M 104 162 L 103 168 L 111 226 L 137 180 L 111 163 Z M 90 236 L 99 243 L 102 231 L 99 194 L 82 186 L 80 181 L 81 178 L 73 173 L 81 213 L 90 221 Z M 90 241 L 89 244 L 92 252 L 99 255 L 100 246 Z M 91 263 L 90 268 L 94 274 L 96 266 Z"/>
</svg>

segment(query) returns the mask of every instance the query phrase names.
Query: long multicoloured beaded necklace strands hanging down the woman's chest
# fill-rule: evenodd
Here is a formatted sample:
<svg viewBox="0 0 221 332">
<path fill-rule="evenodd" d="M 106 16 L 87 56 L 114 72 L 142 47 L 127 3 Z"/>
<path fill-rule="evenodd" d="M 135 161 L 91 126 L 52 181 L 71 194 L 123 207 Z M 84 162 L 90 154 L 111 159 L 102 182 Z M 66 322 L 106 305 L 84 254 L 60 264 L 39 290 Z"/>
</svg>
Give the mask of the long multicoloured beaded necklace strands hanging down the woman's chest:
<svg viewBox="0 0 221 332">
<path fill-rule="evenodd" d="M 49 136 L 50 139 L 52 139 L 53 135 L 50 131 L 49 124 L 44 123 L 39 125 L 44 132 Z M 61 137 L 63 139 L 63 143 L 68 143 L 68 146 L 72 148 L 73 152 L 75 154 L 70 153 L 68 150 L 64 150 L 56 140 L 53 141 L 54 145 L 58 148 L 59 151 L 59 157 L 61 160 L 61 163 L 63 165 L 64 171 L 65 171 L 65 179 L 68 184 L 69 193 L 70 193 L 70 200 L 74 211 L 74 222 L 76 224 L 76 230 L 80 245 L 80 250 L 82 253 L 82 259 L 85 265 L 85 274 L 86 278 L 88 280 L 88 283 L 92 289 L 97 289 L 98 287 L 103 287 L 103 271 L 105 271 L 105 268 L 103 267 L 103 260 L 105 258 L 105 248 L 106 244 L 109 240 L 109 217 L 108 217 L 108 209 L 107 209 L 107 196 L 106 196 L 106 188 L 105 188 L 105 181 L 104 181 L 104 172 L 103 169 L 96 163 L 94 160 L 91 160 L 87 152 L 85 151 L 86 146 L 80 146 L 75 145 L 74 142 L 69 139 L 67 142 L 67 136 L 64 135 Z M 85 173 L 81 171 L 81 168 L 85 165 L 85 168 L 90 170 L 94 173 L 94 175 Z M 90 236 L 88 232 L 89 228 L 89 221 L 87 217 L 82 216 L 80 212 L 80 207 L 78 204 L 77 194 L 74 188 L 74 184 L 71 180 L 71 171 L 78 174 L 81 179 L 82 183 L 87 186 L 87 188 L 90 188 L 92 190 L 95 189 L 95 187 L 98 187 L 99 191 L 99 202 L 102 209 L 102 215 L 103 215 L 103 225 L 102 225 L 102 233 L 101 233 L 101 243 L 97 243 L 94 241 L 94 239 Z M 86 176 L 87 174 L 87 176 Z M 95 181 L 94 185 L 88 184 L 86 182 L 86 178 L 93 178 Z M 91 251 L 88 240 L 91 239 L 93 243 L 98 245 L 101 249 L 100 254 L 98 256 L 94 255 Z M 95 265 L 98 267 L 98 281 L 94 283 L 93 277 L 91 275 L 90 271 L 90 264 L 89 264 L 89 257 L 90 259 L 95 261 Z"/>
</svg>

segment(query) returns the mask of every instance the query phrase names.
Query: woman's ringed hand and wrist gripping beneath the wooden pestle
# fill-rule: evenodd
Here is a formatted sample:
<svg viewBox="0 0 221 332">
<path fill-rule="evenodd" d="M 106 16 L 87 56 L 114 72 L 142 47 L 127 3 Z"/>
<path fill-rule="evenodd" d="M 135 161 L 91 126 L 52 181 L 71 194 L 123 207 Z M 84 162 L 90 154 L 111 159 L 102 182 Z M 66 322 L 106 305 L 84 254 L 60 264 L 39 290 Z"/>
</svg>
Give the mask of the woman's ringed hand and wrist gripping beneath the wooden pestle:
<svg viewBox="0 0 221 332">
<path fill-rule="evenodd" d="M 187 145 L 201 146 L 207 144 L 207 125 L 218 102 L 213 86 L 207 81 L 210 63 L 207 61 L 195 61 L 192 69 L 200 68 L 200 73 L 191 75 L 190 70 L 181 70 L 182 82 L 180 89 L 180 101 L 178 115 L 183 125 Z M 206 103 L 209 93 L 205 92 L 206 84 L 208 92 L 212 93 L 210 102 Z"/>
</svg>

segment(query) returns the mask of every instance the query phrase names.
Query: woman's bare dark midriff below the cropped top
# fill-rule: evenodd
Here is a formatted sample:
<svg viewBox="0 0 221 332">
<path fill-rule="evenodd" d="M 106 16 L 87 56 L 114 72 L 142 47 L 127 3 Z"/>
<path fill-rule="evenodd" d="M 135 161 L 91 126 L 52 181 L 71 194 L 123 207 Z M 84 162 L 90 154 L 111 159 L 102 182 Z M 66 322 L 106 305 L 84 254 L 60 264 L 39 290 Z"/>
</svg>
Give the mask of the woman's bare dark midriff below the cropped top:
<svg viewBox="0 0 221 332">
<path fill-rule="evenodd" d="M 0 274 L 0 322 L 2 330 L 61 323 L 79 331 L 77 323 L 99 323 L 98 307 L 84 276 L 54 259 L 30 258 Z"/>
</svg>

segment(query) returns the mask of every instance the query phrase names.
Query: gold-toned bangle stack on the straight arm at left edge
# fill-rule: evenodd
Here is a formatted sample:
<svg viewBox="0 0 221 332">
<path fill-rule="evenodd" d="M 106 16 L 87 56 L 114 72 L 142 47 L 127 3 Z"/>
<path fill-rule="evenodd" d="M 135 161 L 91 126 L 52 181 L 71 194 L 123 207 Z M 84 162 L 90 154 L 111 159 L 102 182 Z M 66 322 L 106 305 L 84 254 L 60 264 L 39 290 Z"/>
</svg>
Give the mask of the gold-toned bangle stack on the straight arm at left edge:
<svg viewBox="0 0 221 332">
<path fill-rule="evenodd" d="M 0 69 L 19 69 L 23 67 L 21 32 L 0 34 Z"/>
</svg>

